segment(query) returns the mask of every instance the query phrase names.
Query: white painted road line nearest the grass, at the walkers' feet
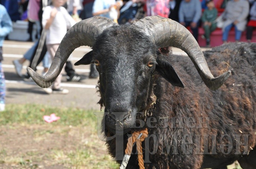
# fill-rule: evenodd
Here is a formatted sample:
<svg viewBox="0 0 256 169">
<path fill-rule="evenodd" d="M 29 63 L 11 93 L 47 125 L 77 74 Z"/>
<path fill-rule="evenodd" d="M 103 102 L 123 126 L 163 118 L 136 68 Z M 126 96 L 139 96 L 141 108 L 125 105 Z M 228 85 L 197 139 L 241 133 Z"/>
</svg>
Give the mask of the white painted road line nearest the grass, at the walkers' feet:
<svg viewBox="0 0 256 169">
<path fill-rule="evenodd" d="M 18 84 L 18 83 L 23 83 L 27 85 L 36 85 L 35 82 L 27 82 L 23 80 L 5 80 L 5 83 L 13 83 L 13 84 Z M 62 87 L 71 87 L 71 88 L 90 88 L 90 89 L 95 89 L 96 85 L 82 85 L 82 84 L 74 84 L 74 83 L 61 83 Z"/>
</svg>

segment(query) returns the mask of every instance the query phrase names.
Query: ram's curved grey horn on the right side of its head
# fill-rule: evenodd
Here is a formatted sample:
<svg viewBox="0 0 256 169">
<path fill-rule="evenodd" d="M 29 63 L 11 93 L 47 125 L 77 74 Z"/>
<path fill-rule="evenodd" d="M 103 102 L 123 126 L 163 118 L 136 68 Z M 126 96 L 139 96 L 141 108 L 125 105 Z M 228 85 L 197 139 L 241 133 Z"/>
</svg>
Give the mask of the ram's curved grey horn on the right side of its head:
<svg viewBox="0 0 256 169">
<path fill-rule="evenodd" d="M 152 37 L 157 47 L 173 46 L 185 51 L 209 89 L 218 89 L 231 74 L 229 70 L 218 77 L 214 77 L 196 39 L 183 25 L 176 21 L 160 16 L 152 16 L 140 19 L 134 22 L 132 26 L 141 29 Z"/>
</svg>

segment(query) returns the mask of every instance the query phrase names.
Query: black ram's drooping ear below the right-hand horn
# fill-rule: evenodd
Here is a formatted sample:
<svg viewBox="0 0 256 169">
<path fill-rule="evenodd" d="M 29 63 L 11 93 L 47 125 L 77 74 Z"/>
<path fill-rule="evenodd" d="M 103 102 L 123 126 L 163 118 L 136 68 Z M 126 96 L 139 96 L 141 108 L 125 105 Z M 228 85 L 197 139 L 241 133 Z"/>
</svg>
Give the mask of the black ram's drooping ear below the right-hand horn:
<svg viewBox="0 0 256 169">
<path fill-rule="evenodd" d="M 173 86 L 184 88 L 182 81 L 168 60 L 163 57 L 157 57 L 156 62 L 156 71 L 159 73 L 159 75 L 165 78 Z"/>
</svg>

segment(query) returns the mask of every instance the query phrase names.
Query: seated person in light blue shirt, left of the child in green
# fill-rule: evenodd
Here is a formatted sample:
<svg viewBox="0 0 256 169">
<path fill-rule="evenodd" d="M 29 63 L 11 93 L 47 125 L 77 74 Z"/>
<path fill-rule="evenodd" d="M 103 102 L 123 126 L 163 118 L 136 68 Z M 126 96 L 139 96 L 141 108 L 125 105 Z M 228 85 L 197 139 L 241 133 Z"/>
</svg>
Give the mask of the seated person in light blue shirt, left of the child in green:
<svg viewBox="0 0 256 169">
<path fill-rule="evenodd" d="M 179 23 L 183 26 L 190 26 L 194 38 L 198 39 L 198 26 L 202 14 L 202 7 L 199 0 L 183 0 L 179 7 Z"/>
</svg>

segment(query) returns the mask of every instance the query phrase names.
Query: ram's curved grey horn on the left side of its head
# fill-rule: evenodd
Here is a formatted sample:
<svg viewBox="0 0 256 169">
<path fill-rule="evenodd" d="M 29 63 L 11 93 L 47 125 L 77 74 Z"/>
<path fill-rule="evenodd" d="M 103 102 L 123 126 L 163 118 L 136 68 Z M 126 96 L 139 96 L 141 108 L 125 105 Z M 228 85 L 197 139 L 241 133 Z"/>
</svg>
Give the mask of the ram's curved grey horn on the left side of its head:
<svg viewBox="0 0 256 169">
<path fill-rule="evenodd" d="M 74 49 L 80 46 L 92 47 L 95 39 L 106 29 L 118 25 L 114 21 L 105 17 L 92 17 L 82 20 L 72 26 L 66 33 L 57 49 L 49 71 L 45 76 L 40 76 L 30 67 L 27 71 L 31 78 L 42 88 L 47 88 L 52 85 L 55 79 L 59 76 L 64 64 L 69 55 Z"/>
</svg>

